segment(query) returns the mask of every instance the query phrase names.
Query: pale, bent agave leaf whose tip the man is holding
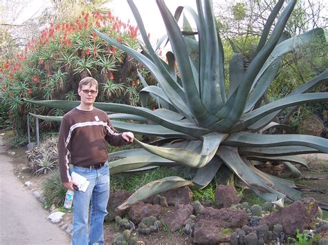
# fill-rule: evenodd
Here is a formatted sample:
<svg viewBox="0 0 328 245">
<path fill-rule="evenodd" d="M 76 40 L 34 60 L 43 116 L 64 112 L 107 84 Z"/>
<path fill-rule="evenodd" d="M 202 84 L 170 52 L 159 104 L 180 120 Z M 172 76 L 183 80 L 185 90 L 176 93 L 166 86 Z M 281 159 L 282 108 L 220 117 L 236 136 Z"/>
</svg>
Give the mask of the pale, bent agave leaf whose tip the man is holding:
<svg viewBox="0 0 328 245">
<path fill-rule="evenodd" d="M 163 148 L 158 146 L 151 146 L 138 140 L 136 141 L 138 142 L 138 144 L 140 144 L 140 146 L 145 148 L 145 150 L 148 150 L 149 152 L 154 153 L 158 156 L 165 157 L 166 159 L 179 162 L 185 166 L 190 166 L 192 168 L 201 168 L 203 166 L 206 166 L 206 164 L 208 164 L 212 157 L 214 157 L 215 153 L 217 152 L 217 149 L 219 148 L 219 144 L 221 143 L 221 141 L 224 141 L 227 136 L 228 135 L 219 133 L 210 133 L 208 135 L 204 135 L 203 142 L 196 141 L 196 147 L 203 143 L 200 154 L 188 149 Z"/>
</svg>

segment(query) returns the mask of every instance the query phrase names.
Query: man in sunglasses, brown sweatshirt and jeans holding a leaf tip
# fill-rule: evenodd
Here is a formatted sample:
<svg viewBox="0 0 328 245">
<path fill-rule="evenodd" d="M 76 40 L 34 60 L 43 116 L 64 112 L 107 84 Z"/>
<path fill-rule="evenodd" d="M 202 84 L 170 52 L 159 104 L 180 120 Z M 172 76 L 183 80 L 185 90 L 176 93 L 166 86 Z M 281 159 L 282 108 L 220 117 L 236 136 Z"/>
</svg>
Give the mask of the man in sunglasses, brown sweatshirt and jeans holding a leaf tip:
<svg viewBox="0 0 328 245">
<path fill-rule="evenodd" d="M 80 81 L 80 105 L 64 115 L 58 139 L 62 184 L 73 190 L 69 160 L 73 172 L 90 182 L 86 192 L 74 191 L 73 245 L 103 244 L 103 222 L 109 199 L 109 164 L 107 142 L 122 146 L 134 140 L 131 132 L 117 133 L 106 112 L 93 107 L 98 95 L 98 82 L 92 77 Z M 91 201 L 88 238 L 89 204 Z"/>
</svg>

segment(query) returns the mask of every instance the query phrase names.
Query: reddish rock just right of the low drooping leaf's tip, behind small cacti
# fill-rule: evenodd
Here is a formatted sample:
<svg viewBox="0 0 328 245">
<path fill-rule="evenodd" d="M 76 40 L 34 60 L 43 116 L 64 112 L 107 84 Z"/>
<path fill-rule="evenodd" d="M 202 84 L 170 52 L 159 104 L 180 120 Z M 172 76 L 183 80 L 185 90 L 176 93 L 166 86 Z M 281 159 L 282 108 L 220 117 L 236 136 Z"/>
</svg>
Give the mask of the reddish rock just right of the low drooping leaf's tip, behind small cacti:
<svg viewBox="0 0 328 245">
<path fill-rule="evenodd" d="M 145 204 L 144 202 L 137 202 L 131 205 L 129 210 L 129 217 L 134 224 L 139 224 L 143 218 L 154 216 L 158 217 L 163 211 L 160 205 Z"/>
</svg>

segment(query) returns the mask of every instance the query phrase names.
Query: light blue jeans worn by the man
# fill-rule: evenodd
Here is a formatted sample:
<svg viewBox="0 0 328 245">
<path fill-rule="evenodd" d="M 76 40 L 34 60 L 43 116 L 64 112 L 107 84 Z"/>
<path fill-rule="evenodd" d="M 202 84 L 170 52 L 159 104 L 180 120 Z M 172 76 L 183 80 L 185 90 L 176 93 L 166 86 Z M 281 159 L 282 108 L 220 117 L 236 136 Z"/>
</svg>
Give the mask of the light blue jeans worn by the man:
<svg viewBox="0 0 328 245">
<path fill-rule="evenodd" d="M 98 169 L 73 166 L 73 172 L 86 177 L 90 184 L 85 193 L 74 191 L 72 244 L 104 244 L 104 217 L 107 215 L 109 199 L 109 164 L 106 162 Z M 88 229 L 90 201 L 90 229 Z"/>
</svg>

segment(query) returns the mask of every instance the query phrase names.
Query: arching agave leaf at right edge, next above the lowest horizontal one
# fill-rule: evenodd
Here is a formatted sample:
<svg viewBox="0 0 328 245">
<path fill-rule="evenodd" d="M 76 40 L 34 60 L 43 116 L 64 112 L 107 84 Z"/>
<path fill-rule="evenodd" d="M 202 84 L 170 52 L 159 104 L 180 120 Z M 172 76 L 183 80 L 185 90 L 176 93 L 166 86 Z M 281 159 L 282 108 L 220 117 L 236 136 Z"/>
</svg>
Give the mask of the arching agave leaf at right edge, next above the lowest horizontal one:
<svg viewBox="0 0 328 245">
<path fill-rule="evenodd" d="M 270 115 L 272 112 L 275 112 L 277 110 L 282 110 L 289 106 L 295 106 L 298 104 L 320 101 L 328 101 L 327 92 L 311 92 L 301 95 L 291 95 L 282 99 L 278 99 L 277 101 L 273 101 L 270 104 L 266 104 L 264 106 L 261 106 L 260 108 L 257 108 L 256 110 L 244 114 L 240 118 L 241 122 L 236 124 L 236 126 L 233 127 L 231 132 L 234 133 L 243 130 L 251 124 L 254 124 L 257 120 L 262 119 L 266 115 Z"/>
</svg>

